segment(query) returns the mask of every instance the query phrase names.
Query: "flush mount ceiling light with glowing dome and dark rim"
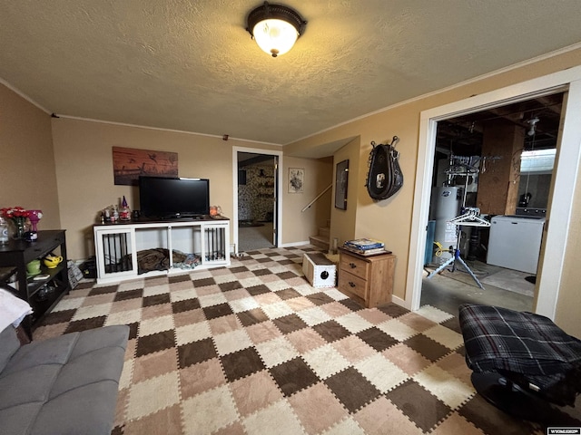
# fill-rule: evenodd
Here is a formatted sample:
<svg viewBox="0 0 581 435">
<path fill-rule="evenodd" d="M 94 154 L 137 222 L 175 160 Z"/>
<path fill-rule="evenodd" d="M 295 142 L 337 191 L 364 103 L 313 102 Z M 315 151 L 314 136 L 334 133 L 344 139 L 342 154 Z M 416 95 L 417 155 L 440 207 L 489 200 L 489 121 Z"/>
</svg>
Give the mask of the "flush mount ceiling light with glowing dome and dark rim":
<svg viewBox="0 0 581 435">
<path fill-rule="evenodd" d="M 290 7 L 264 2 L 248 14 L 247 24 L 246 30 L 261 50 L 277 57 L 291 50 L 307 22 Z"/>
</svg>

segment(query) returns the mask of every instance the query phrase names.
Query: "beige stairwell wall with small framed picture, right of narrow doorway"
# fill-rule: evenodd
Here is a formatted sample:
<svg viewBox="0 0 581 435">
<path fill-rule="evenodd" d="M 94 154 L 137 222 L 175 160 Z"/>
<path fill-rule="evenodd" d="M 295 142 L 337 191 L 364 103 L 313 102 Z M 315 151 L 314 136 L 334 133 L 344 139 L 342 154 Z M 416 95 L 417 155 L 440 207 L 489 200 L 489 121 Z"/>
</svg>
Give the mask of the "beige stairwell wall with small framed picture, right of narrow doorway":
<svg viewBox="0 0 581 435">
<path fill-rule="evenodd" d="M 309 241 L 330 218 L 330 190 L 312 207 L 300 211 L 330 185 L 333 174 L 329 159 L 282 158 L 282 244 Z M 289 168 L 305 169 L 303 193 L 289 193 Z"/>
</svg>

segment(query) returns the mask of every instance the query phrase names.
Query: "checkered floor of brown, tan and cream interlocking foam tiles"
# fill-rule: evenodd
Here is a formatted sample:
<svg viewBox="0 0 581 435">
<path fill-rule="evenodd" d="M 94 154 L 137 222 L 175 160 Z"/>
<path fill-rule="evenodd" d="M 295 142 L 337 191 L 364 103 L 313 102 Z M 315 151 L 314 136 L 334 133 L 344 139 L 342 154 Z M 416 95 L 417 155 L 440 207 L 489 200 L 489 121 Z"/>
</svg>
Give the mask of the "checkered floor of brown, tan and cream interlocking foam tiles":
<svg viewBox="0 0 581 435">
<path fill-rule="evenodd" d="M 117 285 L 84 281 L 35 340 L 129 324 L 116 434 L 530 434 L 474 391 L 458 321 L 365 309 L 301 270 L 313 247 Z M 581 422 L 576 420 L 579 425 Z"/>
</svg>

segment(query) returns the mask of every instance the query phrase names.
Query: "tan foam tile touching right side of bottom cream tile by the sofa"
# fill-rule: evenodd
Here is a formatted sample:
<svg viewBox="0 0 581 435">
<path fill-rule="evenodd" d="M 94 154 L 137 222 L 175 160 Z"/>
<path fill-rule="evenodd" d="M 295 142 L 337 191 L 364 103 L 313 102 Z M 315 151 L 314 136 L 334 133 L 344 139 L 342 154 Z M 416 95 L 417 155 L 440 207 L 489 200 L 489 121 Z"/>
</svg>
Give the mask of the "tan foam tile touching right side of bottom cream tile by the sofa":
<svg viewBox="0 0 581 435">
<path fill-rule="evenodd" d="M 218 358 L 189 365 L 179 372 L 182 400 L 227 383 Z"/>
</svg>

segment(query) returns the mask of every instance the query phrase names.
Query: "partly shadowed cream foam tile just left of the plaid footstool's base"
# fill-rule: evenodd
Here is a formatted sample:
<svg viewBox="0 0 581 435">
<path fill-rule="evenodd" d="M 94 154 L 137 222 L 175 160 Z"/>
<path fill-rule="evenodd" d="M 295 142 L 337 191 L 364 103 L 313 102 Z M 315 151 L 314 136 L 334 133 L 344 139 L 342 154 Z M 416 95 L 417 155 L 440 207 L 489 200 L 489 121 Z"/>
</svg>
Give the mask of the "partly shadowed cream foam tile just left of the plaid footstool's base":
<svg viewBox="0 0 581 435">
<path fill-rule="evenodd" d="M 474 395 L 474 389 L 437 365 L 429 365 L 412 378 L 453 410 Z"/>
</svg>

